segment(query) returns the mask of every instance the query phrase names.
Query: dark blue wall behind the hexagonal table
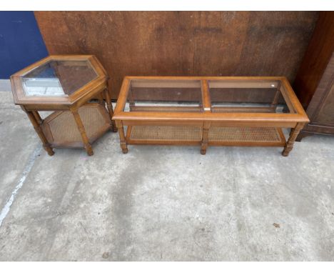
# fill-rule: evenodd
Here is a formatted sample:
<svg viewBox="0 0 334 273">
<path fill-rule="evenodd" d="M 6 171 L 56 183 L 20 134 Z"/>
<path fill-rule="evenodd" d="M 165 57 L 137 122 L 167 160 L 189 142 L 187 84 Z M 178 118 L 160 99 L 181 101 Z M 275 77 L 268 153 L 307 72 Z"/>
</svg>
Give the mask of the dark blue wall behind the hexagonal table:
<svg viewBox="0 0 334 273">
<path fill-rule="evenodd" d="M 0 11 L 0 79 L 47 55 L 33 11 Z"/>
</svg>

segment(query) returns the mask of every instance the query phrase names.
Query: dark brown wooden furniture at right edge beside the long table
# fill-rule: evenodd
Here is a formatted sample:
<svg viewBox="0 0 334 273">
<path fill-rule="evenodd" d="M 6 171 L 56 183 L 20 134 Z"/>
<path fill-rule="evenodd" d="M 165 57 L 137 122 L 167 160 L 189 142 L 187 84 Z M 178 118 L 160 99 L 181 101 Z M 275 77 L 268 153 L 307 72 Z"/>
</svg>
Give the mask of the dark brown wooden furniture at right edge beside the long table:
<svg viewBox="0 0 334 273">
<path fill-rule="evenodd" d="M 310 118 L 297 140 L 312 134 L 334 134 L 333 11 L 320 11 L 294 89 Z"/>
</svg>

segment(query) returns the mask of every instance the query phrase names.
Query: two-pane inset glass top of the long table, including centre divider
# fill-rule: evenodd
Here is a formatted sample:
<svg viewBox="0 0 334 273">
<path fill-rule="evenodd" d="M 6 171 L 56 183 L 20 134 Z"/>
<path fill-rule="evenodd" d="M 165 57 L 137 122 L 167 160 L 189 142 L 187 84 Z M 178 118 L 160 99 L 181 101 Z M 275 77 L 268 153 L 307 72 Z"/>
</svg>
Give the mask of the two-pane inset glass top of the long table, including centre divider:
<svg viewBox="0 0 334 273">
<path fill-rule="evenodd" d="M 274 78 L 131 79 L 123 111 L 294 113 L 287 94 Z"/>
</svg>

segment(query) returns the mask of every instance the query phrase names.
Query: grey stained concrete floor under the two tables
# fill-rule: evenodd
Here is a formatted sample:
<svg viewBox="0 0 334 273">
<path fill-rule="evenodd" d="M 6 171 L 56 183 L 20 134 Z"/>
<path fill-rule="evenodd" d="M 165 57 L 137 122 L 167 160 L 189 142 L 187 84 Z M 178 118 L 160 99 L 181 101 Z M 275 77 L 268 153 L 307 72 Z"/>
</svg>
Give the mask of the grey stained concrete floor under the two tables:
<svg viewBox="0 0 334 273">
<path fill-rule="evenodd" d="M 258 147 L 122 154 L 107 133 L 93 157 L 49 157 L 4 89 L 1 261 L 334 260 L 333 137 L 307 137 L 285 158 Z"/>
</svg>

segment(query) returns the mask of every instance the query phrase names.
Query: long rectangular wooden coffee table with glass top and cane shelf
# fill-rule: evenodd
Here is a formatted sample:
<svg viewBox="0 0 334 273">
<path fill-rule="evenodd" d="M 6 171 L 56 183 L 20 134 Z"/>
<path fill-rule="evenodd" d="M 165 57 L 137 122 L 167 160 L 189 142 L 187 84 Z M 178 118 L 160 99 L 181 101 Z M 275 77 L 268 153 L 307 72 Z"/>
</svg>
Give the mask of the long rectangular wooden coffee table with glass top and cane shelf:
<svg viewBox="0 0 334 273">
<path fill-rule="evenodd" d="M 113 114 L 128 144 L 284 147 L 309 122 L 281 76 L 126 76 Z M 123 126 L 127 126 L 124 134 Z M 285 140 L 282 128 L 291 128 Z"/>
</svg>

